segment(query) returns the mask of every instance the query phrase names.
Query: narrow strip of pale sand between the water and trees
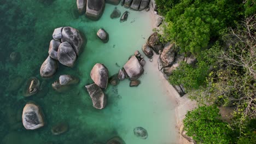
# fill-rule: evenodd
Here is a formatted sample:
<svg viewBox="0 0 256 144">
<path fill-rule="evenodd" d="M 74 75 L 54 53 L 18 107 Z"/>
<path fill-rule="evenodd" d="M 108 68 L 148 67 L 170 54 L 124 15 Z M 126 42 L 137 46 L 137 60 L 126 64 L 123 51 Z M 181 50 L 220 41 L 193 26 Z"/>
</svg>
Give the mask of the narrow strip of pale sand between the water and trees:
<svg viewBox="0 0 256 144">
<path fill-rule="evenodd" d="M 154 0 L 152 1 L 154 3 Z M 154 4 L 153 4 L 154 5 Z M 157 28 L 156 22 L 158 20 L 159 15 L 154 14 L 154 9 L 150 3 L 150 15 L 152 17 L 152 29 Z M 154 53 L 153 64 L 156 69 L 158 69 L 158 58 L 160 55 L 156 55 Z M 176 116 L 176 133 L 177 133 L 177 141 L 175 143 L 190 143 L 188 140 L 184 139 L 184 137 L 180 134 L 179 128 L 183 125 L 183 119 L 187 111 L 193 110 L 197 105 L 196 101 L 191 101 L 188 98 L 188 95 L 185 94 L 183 97 L 180 97 L 176 89 L 165 79 L 164 75 L 159 71 L 159 77 L 161 78 L 162 86 L 165 87 L 167 95 L 171 97 L 173 103 L 175 104 L 175 116 Z"/>
</svg>

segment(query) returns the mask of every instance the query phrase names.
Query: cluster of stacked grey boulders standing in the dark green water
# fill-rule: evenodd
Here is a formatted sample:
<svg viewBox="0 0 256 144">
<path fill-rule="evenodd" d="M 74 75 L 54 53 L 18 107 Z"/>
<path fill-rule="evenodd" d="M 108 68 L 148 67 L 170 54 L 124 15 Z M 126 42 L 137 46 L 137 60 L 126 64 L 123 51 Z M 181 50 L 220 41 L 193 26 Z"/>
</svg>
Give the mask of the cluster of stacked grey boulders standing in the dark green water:
<svg viewBox="0 0 256 144">
<path fill-rule="evenodd" d="M 75 28 L 56 28 L 53 40 L 50 41 L 49 56 L 40 68 L 40 75 L 42 77 L 53 76 L 57 70 L 57 61 L 67 67 L 73 67 L 77 56 L 82 51 L 83 41 L 82 35 Z"/>
</svg>

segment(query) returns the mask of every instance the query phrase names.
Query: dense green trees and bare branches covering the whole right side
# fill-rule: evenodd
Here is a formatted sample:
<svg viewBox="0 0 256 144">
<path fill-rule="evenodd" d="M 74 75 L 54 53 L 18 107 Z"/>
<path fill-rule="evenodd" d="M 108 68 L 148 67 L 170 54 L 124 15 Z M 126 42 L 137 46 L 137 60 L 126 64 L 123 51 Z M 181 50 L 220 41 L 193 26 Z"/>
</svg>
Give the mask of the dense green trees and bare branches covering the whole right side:
<svg viewBox="0 0 256 144">
<path fill-rule="evenodd" d="M 254 0 L 156 0 L 165 17 L 163 42 L 197 58 L 182 62 L 169 78 L 183 85 L 199 107 L 188 112 L 185 129 L 196 142 L 256 143 L 256 2 Z M 234 108 L 220 121 L 216 106 Z M 209 125 L 211 127 L 208 127 Z"/>
</svg>

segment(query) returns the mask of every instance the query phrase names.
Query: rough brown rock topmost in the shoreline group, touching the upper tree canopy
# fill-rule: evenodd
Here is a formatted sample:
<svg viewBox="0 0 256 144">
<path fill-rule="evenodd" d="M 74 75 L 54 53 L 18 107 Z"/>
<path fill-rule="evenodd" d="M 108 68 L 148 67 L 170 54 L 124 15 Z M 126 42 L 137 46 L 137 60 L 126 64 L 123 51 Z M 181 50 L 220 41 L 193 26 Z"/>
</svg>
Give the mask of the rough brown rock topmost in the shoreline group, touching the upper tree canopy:
<svg viewBox="0 0 256 144">
<path fill-rule="evenodd" d="M 159 51 L 162 50 L 162 44 L 158 38 L 158 33 L 153 33 L 147 40 L 147 44 L 152 47 L 155 53 L 159 54 Z"/>
</svg>

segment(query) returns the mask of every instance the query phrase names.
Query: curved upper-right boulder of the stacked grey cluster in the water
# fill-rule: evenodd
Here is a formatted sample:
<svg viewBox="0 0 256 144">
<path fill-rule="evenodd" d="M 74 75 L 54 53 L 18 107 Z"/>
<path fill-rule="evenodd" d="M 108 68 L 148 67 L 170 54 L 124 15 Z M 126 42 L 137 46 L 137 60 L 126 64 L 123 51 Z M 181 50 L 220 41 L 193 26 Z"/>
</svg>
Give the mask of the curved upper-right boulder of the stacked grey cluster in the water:
<svg viewBox="0 0 256 144">
<path fill-rule="evenodd" d="M 74 49 L 75 53 L 79 55 L 81 47 L 83 45 L 83 38 L 81 37 L 79 31 L 72 27 L 64 27 L 62 29 L 61 41 L 68 42 Z"/>
</svg>

